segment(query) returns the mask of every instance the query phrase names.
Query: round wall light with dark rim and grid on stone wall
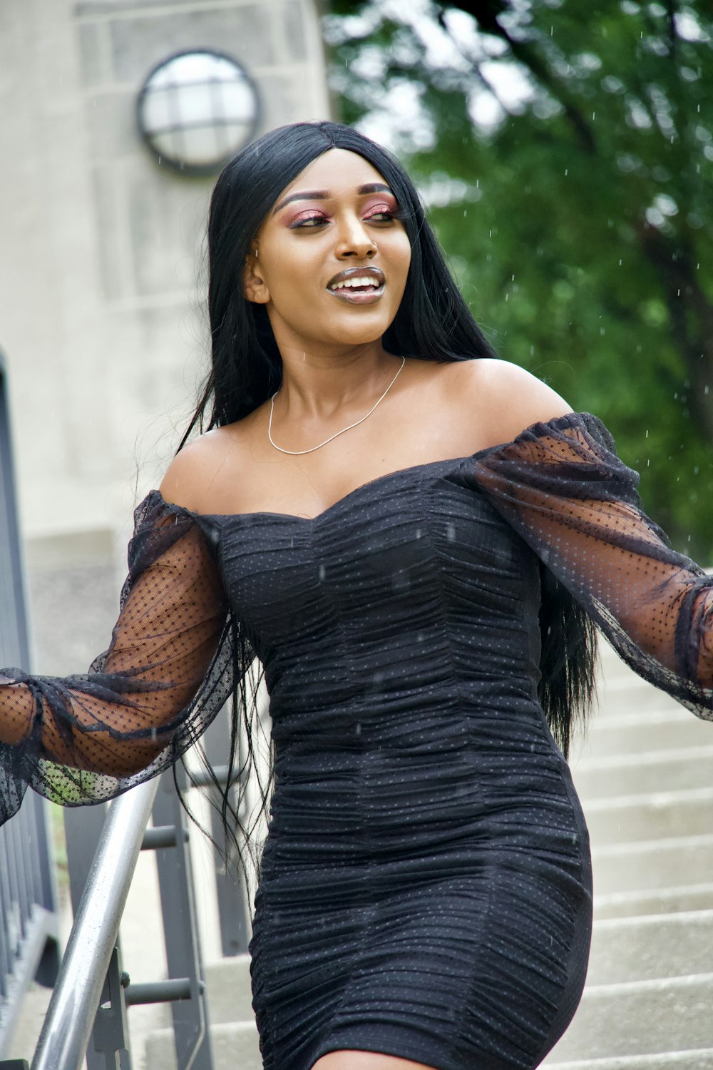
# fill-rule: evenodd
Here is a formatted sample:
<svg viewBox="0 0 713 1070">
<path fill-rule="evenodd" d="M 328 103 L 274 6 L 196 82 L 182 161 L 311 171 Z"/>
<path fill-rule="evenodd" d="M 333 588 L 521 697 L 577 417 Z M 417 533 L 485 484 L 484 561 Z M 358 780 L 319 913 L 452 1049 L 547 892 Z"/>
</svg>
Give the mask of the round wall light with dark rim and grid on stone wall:
<svg viewBox="0 0 713 1070">
<path fill-rule="evenodd" d="M 237 60 L 192 49 L 161 60 L 137 101 L 141 136 L 159 163 L 214 174 L 255 132 L 260 98 Z"/>
</svg>

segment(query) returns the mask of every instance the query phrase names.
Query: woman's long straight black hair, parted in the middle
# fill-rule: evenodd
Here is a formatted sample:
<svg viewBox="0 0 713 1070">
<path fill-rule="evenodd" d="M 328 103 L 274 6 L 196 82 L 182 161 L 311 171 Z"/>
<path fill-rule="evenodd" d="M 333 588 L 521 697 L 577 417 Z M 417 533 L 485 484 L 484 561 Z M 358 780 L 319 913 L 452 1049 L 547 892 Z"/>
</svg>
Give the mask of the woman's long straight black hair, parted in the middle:
<svg viewBox="0 0 713 1070">
<path fill-rule="evenodd" d="M 340 123 L 281 126 L 235 156 L 213 192 L 207 228 L 211 370 L 181 446 L 196 429 L 232 424 L 279 389 L 280 352 L 265 306 L 244 296 L 243 273 L 255 235 L 282 190 L 329 149 L 357 153 L 383 175 L 397 199 L 399 217 L 410 243 L 406 288 L 399 311 L 384 336 L 385 349 L 440 362 L 496 356 L 448 269 L 416 187 L 396 157 Z M 594 632 L 584 611 L 552 572 L 544 566 L 541 571 L 540 699 L 553 734 L 567 754 L 573 718 L 577 710 L 586 708 L 593 693 Z M 244 648 L 246 641 L 238 629 L 235 632 L 234 641 L 241 647 L 235 652 L 236 658 L 246 663 L 249 657 L 249 651 Z M 245 774 L 246 766 L 253 762 L 250 739 L 254 706 L 249 709 L 245 693 L 236 697 L 231 762 L 239 749 L 238 704 L 248 737 Z M 264 785 L 261 794 L 264 802 Z M 223 792 L 223 823 L 227 829 L 236 823 L 245 836 L 237 813 L 239 806 L 230 799 L 229 785 Z"/>
</svg>

